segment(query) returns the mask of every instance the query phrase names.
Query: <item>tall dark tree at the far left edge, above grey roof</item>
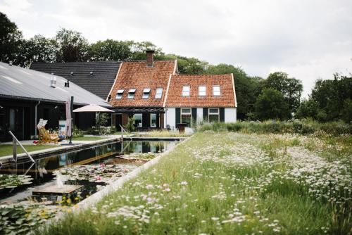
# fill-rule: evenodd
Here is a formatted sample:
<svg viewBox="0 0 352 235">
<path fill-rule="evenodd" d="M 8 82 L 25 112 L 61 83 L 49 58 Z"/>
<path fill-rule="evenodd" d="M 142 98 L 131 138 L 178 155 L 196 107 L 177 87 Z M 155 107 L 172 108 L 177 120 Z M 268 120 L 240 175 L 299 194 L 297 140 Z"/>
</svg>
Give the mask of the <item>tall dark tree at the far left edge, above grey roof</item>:
<svg viewBox="0 0 352 235">
<path fill-rule="evenodd" d="M 13 61 L 18 64 L 20 44 L 23 42 L 22 32 L 4 13 L 0 12 L 0 60 L 4 63 Z"/>
</svg>

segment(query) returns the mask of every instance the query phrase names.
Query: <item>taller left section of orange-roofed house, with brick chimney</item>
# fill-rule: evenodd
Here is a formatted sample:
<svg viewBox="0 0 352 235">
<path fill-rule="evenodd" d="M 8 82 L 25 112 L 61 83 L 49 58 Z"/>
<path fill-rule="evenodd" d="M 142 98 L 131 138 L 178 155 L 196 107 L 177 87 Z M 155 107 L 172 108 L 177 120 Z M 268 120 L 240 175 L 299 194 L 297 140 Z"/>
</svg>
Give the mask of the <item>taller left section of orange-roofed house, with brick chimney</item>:
<svg viewBox="0 0 352 235">
<path fill-rule="evenodd" d="M 164 103 L 170 77 L 178 73 L 177 61 L 123 61 L 108 96 L 114 107 L 112 125 L 120 129 L 134 117 L 138 129 L 164 128 Z"/>
</svg>

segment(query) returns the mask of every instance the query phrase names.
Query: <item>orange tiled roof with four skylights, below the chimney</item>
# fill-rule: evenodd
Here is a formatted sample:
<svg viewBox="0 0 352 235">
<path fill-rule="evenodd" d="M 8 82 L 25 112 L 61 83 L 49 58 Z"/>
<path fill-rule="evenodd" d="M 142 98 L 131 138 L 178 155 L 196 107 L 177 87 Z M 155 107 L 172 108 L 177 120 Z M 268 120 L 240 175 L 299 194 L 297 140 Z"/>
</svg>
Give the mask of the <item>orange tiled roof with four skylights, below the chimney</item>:
<svg viewBox="0 0 352 235">
<path fill-rule="evenodd" d="M 175 74 L 176 61 L 154 61 L 153 67 L 146 67 L 146 61 L 124 61 L 111 91 L 111 105 L 114 107 L 162 107 L 170 75 Z M 149 99 L 143 99 L 145 88 L 150 88 Z M 163 88 L 161 99 L 156 99 L 156 89 Z M 127 99 L 130 89 L 136 89 L 134 99 Z M 124 90 L 122 99 L 115 99 L 118 90 Z"/>
</svg>

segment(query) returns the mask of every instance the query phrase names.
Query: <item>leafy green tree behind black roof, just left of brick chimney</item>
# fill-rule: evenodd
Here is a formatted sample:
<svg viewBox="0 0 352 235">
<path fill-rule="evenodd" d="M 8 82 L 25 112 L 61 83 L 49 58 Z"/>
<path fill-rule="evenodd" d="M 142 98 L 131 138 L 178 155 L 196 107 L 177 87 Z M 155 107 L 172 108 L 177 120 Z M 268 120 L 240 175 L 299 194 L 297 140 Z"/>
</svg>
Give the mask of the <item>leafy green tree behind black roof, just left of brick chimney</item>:
<svg viewBox="0 0 352 235">
<path fill-rule="evenodd" d="M 127 61 L 132 58 L 133 41 L 106 39 L 89 46 L 92 61 Z"/>
</svg>

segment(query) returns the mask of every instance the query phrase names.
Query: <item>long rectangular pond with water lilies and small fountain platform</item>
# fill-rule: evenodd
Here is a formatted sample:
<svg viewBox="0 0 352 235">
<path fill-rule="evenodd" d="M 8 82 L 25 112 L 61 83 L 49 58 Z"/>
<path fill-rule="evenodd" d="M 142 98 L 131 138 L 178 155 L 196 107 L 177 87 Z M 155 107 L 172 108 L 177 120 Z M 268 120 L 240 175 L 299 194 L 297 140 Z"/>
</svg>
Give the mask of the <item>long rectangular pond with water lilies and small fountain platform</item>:
<svg viewBox="0 0 352 235">
<path fill-rule="evenodd" d="M 77 203 L 178 141 L 123 141 L 50 155 L 0 169 L 0 204 Z"/>
</svg>

